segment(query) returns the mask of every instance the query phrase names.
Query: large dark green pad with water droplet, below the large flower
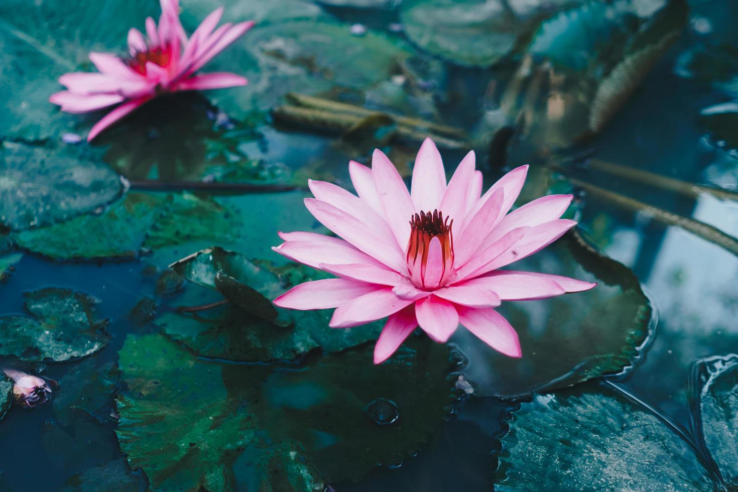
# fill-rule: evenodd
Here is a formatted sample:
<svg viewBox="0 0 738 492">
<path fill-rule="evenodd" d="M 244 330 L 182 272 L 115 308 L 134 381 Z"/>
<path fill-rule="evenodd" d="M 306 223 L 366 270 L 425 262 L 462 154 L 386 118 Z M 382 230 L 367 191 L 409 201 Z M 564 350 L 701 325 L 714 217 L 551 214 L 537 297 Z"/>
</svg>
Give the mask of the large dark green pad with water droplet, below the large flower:
<svg viewBox="0 0 738 492">
<path fill-rule="evenodd" d="M 313 491 L 359 477 L 417 449 L 446 416 L 447 350 L 418 342 L 379 367 L 368 347 L 314 353 L 298 368 L 218 364 L 160 335 L 129 335 L 119 352 L 121 450 L 154 490 Z M 365 414 L 380 397 L 399 409 L 390 425 Z M 263 473 L 275 462 L 287 465 Z"/>
</svg>

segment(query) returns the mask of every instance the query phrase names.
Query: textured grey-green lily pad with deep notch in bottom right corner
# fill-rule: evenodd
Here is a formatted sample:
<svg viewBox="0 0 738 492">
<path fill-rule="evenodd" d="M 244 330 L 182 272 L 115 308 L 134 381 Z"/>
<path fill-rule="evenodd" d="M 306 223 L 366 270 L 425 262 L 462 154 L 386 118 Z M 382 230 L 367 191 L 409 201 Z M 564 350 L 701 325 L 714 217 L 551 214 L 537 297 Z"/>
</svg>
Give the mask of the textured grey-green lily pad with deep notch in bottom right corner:
<svg viewBox="0 0 738 492">
<path fill-rule="evenodd" d="M 690 388 L 693 434 L 617 386 L 535 395 L 508 417 L 495 489 L 732 490 L 738 356 L 697 359 Z"/>
</svg>

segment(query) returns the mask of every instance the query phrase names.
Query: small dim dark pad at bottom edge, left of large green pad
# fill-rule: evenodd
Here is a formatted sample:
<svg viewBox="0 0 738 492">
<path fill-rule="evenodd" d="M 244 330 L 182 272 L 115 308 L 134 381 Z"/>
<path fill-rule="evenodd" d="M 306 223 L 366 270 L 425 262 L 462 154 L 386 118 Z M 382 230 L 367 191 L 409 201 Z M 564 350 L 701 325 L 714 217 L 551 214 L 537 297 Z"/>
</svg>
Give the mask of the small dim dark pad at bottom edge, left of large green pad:
<svg viewBox="0 0 738 492">
<path fill-rule="evenodd" d="M 141 492 L 146 479 L 141 473 L 133 473 L 125 458 L 94 466 L 64 482 L 63 492 Z"/>
</svg>

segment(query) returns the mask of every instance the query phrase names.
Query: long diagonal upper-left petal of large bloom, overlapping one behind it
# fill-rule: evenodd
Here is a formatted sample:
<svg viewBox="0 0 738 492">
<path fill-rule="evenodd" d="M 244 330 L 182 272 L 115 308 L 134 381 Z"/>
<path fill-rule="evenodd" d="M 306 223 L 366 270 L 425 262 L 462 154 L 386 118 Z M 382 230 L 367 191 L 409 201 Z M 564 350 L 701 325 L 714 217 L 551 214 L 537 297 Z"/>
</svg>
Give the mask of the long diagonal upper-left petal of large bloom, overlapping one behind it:
<svg viewBox="0 0 738 492">
<path fill-rule="evenodd" d="M 337 207 L 325 203 L 325 201 L 306 198 L 305 206 L 321 224 L 362 252 L 374 257 L 395 271 L 403 271 L 403 268 L 407 268 L 404 254 L 397 249 L 394 243 L 388 244 L 385 242 L 385 240 L 392 240 L 392 238 L 379 237 L 365 224 L 354 218 L 353 215 L 349 215 Z"/>
</svg>

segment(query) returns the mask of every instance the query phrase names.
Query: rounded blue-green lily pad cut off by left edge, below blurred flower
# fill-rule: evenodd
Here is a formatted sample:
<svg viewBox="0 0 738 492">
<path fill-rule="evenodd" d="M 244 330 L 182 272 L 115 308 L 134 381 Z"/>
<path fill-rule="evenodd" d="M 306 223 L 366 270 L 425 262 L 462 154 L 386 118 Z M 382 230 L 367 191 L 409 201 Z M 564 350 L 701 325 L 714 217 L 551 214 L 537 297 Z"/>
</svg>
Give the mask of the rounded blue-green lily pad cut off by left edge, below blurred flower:
<svg viewBox="0 0 738 492">
<path fill-rule="evenodd" d="M 125 191 L 108 166 L 71 151 L 0 143 L 0 169 L 0 225 L 15 231 L 92 212 Z"/>
</svg>

